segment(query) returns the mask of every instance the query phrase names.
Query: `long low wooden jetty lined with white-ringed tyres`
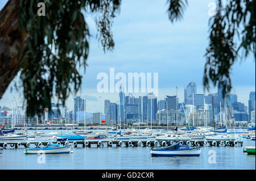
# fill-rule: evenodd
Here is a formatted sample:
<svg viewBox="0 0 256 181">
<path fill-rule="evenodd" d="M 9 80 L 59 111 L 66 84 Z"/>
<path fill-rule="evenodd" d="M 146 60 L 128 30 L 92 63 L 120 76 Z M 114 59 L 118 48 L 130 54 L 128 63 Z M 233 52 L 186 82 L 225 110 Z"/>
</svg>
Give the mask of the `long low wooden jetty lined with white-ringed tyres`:
<svg viewBox="0 0 256 181">
<path fill-rule="evenodd" d="M 212 141 L 212 140 L 191 140 L 191 141 L 181 141 L 181 144 L 187 144 L 191 146 L 242 146 L 243 141 Z M 31 145 L 35 145 L 36 148 L 46 146 L 48 143 L 68 145 L 72 144 L 75 148 L 81 145 L 82 148 L 91 147 L 91 145 L 96 145 L 97 147 L 106 146 L 169 146 L 173 145 L 176 141 L 154 141 L 154 140 L 142 140 L 142 141 L 132 141 L 132 140 L 85 140 L 85 141 L 26 141 L 26 142 L 0 142 L 0 147 L 6 149 L 10 148 L 30 148 Z"/>
</svg>

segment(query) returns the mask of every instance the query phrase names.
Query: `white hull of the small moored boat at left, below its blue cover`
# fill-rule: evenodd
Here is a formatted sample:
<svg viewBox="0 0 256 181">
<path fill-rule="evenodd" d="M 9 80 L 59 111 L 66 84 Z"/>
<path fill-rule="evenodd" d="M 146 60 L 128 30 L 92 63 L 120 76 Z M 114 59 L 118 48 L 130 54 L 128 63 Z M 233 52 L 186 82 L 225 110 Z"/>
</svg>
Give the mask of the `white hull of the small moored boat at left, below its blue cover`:
<svg viewBox="0 0 256 181">
<path fill-rule="evenodd" d="M 71 145 L 63 146 L 56 149 L 24 149 L 24 154 L 59 154 L 70 153 Z"/>
</svg>

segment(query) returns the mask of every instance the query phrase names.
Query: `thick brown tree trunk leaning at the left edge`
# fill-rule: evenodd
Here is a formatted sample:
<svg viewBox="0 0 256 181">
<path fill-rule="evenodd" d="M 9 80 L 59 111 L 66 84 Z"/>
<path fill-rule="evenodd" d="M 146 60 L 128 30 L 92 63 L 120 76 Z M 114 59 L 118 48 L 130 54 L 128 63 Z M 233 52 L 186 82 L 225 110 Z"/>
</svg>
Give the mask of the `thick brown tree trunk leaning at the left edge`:
<svg viewBox="0 0 256 181">
<path fill-rule="evenodd" d="M 26 47 L 18 24 L 19 1 L 9 0 L 0 11 L 0 99 L 19 71 L 19 54 Z"/>
</svg>

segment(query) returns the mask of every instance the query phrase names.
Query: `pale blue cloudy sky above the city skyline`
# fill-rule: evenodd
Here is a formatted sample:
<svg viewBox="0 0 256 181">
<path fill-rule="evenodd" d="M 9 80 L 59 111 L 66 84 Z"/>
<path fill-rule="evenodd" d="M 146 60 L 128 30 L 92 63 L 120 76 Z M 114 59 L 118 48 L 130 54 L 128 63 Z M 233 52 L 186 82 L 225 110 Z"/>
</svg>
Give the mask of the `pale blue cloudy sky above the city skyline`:
<svg viewBox="0 0 256 181">
<path fill-rule="evenodd" d="M 7 1 L 0 1 L 0 9 Z M 197 94 L 217 92 L 212 87 L 203 91 L 203 73 L 205 49 L 208 46 L 209 3 L 213 0 L 193 0 L 184 13 L 184 18 L 172 24 L 167 15 L 166 1 L 122 1 L 121 11 L 114 18 L 113 52 L 104 53 L 96 39 L 97 29 L 94 15 L 86 15 L 86 22 L 92 34 L 89 40 L 90 50 L 86 71 L 83 75 L 81 90 L 77 95 L 86 95 L 86 111 L 104 112 L 104 99 L 118 102 L 118 93 L 97 91 L 99 73 L 110 76 L 110 68 L 115 73 L 158 73 L 158 100 L 165 95 L 176 95 L 179 102 L 184 101 L 184 87 L 193 81 L 197 85 Z M 47 11 L 47 10 L 46 10 Z M 232 67 L 232 93 L 238 95 L 238 102 L 248 104 L 249 94 L 255 91 L 254 56 L 237 61 Z M 15 78 L 18 81 L 18 77 Z M 117 81 L 116 81 L 117 82 Z M 115 82 L 115 83 L 116 83 Z M 10 92 L 9 86 L 0 106 L 11 107 L 11 98 L 15 96 L 22 104 L 20 90 Z M 146 93 L 135 93 L 135 96 Z M 56 99 L 53 99 L 55 102 Z M 67 107 L 73 110 L 73 95 L 67 99 Z"/>
</svg>

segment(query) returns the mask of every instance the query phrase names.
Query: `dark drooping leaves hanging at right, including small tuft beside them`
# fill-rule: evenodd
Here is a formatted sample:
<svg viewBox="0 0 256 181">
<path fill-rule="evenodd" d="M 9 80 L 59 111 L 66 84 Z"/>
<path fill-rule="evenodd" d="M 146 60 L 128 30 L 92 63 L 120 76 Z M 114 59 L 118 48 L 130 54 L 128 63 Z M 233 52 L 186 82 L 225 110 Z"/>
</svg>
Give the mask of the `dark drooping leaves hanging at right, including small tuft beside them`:
<svg viewBox="0 0 256 181">
<path fill-rule="evenodd" d="M 168 0 L 171 22 L 183 17 L 187 1 Z M 219 82 L 222 95 L 232 89 L 230 72 L 237 60 L 254 54 L 255 58 L 255 0 L 230 0 L 223 5 L 217 0 L 216 15 L 209 19 L 209 45 L 206 49 L 204 90 Z"/>
</svg>

